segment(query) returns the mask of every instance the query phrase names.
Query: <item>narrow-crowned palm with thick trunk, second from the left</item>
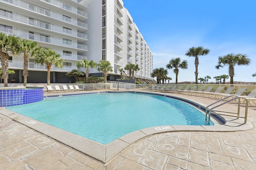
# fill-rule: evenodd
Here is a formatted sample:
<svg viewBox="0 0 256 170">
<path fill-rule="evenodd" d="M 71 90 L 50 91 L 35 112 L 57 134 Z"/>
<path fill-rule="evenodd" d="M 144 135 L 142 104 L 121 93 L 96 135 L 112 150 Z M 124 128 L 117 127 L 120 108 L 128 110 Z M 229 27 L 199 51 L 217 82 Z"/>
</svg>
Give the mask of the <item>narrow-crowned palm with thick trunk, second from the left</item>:
<svg viewBox="0 0 256 170">
<path fill-rule="evenodd" d="M 35 52 L 36 48 L 38 48 L 38 45 L 37 45 L 36 41 L 31 41 L 29 39 L 20 39 L 19 45 L 20 45 L 20 52 L 24 54 L 22 75 L 24 77 L 23 86 L 26 86 L 27 85 L 27 77 L 29 76 L 29 74 L 28 74 L 29 57 L 33 57 L 33 55 L 35 55 L 34 52 Z"/>
</svg>

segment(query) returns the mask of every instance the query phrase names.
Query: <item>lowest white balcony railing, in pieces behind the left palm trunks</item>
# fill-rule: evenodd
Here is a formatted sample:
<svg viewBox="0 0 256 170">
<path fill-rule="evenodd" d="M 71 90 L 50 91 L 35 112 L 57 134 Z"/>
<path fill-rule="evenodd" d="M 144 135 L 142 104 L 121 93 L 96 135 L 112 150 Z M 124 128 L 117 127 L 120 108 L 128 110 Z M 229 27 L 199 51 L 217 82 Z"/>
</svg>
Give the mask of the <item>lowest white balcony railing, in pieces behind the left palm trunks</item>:
<svg viewBox="0 0 256 170">
<path fill-rule="evenodd" d="M 1 66 L 1 63 L 0 63 Z M 9 68 L 23 68 L 23 61 L 9 61 L 8 64 Z M 46 64 L 39 64 L 39 63 L 28 63 L 28 69 L 34 69 L 34 70 L 47 70 Z M 57 68 L 55 66 L 52 66 L 52 71 L 54 70 L 62 70 L 62 71 L 71 71 L 73 69 L 77 69 L 76 66 L 64 66 L 63 68 Z"/>
</svg>

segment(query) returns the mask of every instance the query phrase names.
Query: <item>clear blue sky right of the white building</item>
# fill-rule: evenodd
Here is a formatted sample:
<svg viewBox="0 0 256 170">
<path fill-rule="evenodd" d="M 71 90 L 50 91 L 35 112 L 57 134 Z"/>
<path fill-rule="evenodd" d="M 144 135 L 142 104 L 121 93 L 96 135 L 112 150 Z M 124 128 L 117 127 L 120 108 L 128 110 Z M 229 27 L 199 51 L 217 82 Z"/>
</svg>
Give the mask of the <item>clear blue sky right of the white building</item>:
<svg viewBox="0 0 256 170">
<path fill-rule="evenodd" d="M 256 82 L 256 1 L 255 0 L 123 0 L 133 21 L 150 47 L 153 68 L 166 68 L 172 58 L 188 61 L 180 69 L 178 82 L 195 81 L 194 57 L 190 47 L 210 50 L 199 57 L 198 78 L 228 75 L 228 66 L 217 70 L 218 57 L 242 53 L 251 59 L 249 66 L 235 66 L 234 81 Z M 175 82 L 175 74 L 168 70 Z M 228 79 L 230 81 L 230 78 Z"/>
</svg>

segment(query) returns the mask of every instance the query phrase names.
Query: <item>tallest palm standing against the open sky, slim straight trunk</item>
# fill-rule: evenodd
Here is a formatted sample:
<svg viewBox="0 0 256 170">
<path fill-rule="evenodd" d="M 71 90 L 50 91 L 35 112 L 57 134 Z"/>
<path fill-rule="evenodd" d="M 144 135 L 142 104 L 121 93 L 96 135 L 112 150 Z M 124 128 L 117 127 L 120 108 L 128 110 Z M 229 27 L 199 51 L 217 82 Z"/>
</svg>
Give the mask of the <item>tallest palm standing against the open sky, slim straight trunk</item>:
<svg viewBox="0 0 256 170">
<path fill-rule="evenodd" d="M 191 47 L 190 49 L 188 49 L 188 51 L 186 52 L 186 56 L 188 57 L 195 57 L 195 66 L 196 66 L 196 71 L 195 71 L 195 75 L 196 75 L 196 84 L 198 84 L 198 64 L 199 64 L 199 59 L 198 57 L 200 55 L 207 55 L 210 52 L 209 49 L 205 49 L 202 46 L 200 47 Z"/>
</svg>

